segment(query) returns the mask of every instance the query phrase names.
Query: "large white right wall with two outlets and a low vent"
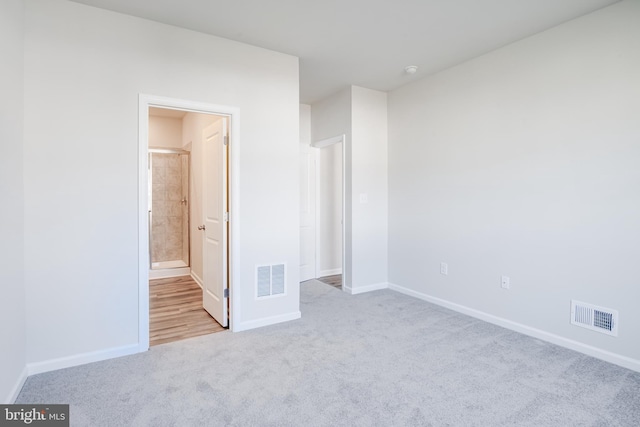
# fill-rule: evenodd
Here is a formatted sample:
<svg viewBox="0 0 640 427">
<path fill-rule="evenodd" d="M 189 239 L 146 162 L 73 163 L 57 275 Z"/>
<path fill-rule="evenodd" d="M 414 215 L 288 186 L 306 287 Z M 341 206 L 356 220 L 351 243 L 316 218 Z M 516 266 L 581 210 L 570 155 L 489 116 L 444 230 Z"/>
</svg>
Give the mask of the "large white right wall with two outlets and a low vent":
<svg viewBox="0 0 640 427">
<path fill-rule="evenodd" d="M 617 3 L 390 93 L 391 282 L 640 368 L 638 22 Z"/>
</svg>

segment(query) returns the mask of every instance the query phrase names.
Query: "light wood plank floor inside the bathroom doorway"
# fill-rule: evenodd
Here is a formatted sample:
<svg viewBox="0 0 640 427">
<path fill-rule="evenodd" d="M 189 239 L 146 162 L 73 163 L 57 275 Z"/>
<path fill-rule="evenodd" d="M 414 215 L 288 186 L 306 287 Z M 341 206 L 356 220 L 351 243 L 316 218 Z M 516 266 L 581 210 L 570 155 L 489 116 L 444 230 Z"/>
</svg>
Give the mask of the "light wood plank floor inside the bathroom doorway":
<svg viewBox="0 0 640 427">
<path fill-rule="evenodd" d="M 191 276 L 149 280 L 149 345 L 224 331 L 204 308 Z"/>
</svg>

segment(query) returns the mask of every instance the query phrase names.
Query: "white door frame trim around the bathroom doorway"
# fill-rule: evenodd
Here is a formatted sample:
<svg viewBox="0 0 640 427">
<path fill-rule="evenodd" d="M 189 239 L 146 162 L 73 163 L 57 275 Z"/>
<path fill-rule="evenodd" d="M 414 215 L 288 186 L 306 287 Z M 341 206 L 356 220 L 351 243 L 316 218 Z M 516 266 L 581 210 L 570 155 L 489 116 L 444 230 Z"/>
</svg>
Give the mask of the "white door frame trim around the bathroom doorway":
<svg viewBox="0 0 640 427">
<path fill-rule="evenodd" d="M 229 329 L 239 324 L 240 289 L 234 287 L 234 277 L 240 277 L 237 236 L 240 228 L 239 166 L 240 166 L 240 109 L 226 105 L 208 104 L 149 94 L 138 96 L 138 351 L 149 350 L 149 107 L 160 107 L 194 113 L 226 116 L 229 120 L 229 232 L 227 272 L 229 282 Z"/>
</svg>

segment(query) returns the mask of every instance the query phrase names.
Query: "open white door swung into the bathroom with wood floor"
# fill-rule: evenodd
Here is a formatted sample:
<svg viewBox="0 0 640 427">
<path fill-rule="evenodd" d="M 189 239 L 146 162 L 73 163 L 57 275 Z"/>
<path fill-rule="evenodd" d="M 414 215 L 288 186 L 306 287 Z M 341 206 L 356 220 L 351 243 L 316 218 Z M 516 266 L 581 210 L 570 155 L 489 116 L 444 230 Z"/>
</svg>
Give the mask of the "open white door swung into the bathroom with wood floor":
<svg viewBox="0 0 640 427">
<path fill-rule="evenodd" d="M 227 298 L 227 146 L 226 120 L 202 131 L 203 306 L 222 326 L 228 325 Z"/>
</svg>

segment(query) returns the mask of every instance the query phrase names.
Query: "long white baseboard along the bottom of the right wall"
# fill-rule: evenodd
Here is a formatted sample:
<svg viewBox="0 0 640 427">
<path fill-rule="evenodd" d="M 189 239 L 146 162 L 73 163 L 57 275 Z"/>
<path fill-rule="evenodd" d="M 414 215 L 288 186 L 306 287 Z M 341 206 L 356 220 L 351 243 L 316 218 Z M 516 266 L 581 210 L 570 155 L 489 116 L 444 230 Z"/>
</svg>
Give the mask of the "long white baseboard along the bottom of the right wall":
<svg viewBox="0 0 640 427">
<path fill-rule="evenodd" d="M 561 337 L 550 332 L 543 331 L 541 329 L 532 328 L 521 323 L 513 322 L 511 320 L 494 316 L 489 313 L 485 313 L 480 310 L 476 310 L 464 305 L 456 304 L 441 298 L 433 297 L 422 292 L 417 292 L 412 289 L 405 288 L 393 283 L 389 283 L 389 289 L 409 295 L 441 307 L 448 308 L 458 313 L 466 314 L 476 319 L 484 320 L 485 322 L 493 323 L 494 325 L 502 326 L 503 328 L 510 329 L 512 331 L 520 332 L 521 334 L 528 335 L 530 337 L 538 338 L 542 341 L 547 341 L 552 344 L 559 345 L 561 347 L 568 348 L 570 350 L 577 351 L 587 356 L 595 357 L 596 359 L 604 360 L 605 362 L 613 363 L 615 365 L 622 366 L 627 369 L 631 369 L 636 372 L 640 372 L 640 360 L 632 359 L 621 354 L 612 353 L 601 348 L 593 347 L 579 341 L 574 341 L 569 338 Z"/>
</svg>

